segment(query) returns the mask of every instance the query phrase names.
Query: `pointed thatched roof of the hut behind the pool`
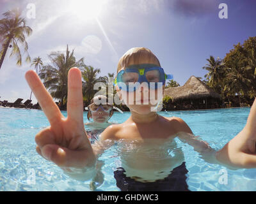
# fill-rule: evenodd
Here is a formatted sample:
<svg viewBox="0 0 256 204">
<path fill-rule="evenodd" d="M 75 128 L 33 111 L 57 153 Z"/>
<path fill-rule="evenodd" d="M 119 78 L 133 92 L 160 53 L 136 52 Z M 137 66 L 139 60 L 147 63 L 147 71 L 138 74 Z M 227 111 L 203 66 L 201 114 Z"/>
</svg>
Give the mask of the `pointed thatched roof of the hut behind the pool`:
<svg viewBox="0 0 256 204">
<path fill-rule="evenodd" d="M 173 101 L 180 99 L 198 99 L 198 98 L 218 98 L 220 95 L 214 92 L 209 86 L 205 85 L 195 76 L 180 87 L 170 87 L 164 90 L 164 96 L 170 96 Z"/>
</svg>

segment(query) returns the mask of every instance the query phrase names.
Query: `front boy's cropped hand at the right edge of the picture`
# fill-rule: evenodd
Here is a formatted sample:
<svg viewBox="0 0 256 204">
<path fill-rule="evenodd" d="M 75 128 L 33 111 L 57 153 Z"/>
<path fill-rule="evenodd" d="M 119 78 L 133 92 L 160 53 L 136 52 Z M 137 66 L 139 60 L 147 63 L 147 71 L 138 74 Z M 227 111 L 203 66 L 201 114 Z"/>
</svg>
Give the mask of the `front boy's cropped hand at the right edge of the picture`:
<svg viewBox="0 0 256 204">
<path fill-rule="evenodd" d="M 244 129 L 217 152 L 221 163 L 239 168 L 256 168 L 256 99 Z"/>
</svg>

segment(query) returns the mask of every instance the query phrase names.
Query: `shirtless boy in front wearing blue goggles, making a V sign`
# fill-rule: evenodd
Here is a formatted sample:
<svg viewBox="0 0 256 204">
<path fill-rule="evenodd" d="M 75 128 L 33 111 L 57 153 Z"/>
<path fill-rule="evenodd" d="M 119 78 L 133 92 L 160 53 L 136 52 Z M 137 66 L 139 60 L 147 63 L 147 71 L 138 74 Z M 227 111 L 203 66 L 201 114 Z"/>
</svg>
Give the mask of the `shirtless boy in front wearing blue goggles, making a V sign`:
<svg viewBox="0 0 256 204">
<path fill-rule="evenodd" d="M 140 70 L 137 72 L 140 76 L 136 74 L 136 69 Z M 157 57 L 146 48 L 128 50 L 118 62 L 117 72 L 117 82 L 127 84 L 128 88 L 131 87 L 129 82 L 143 81 L 163 83 L 162 87 L 157 84 L 153 90 L 150 89 L 150 93 L 164 90 L 163 69 Z M 157 186 L 153 189 L 155 191 L 188 190 L 185 176 L 187 170 L 182 152 L 175 151 L 173 157 L 167 156 L 166 159 L 159 159 L 159 161 L 154 159 L 152 154 L 145 153 L 147 151 L 143 152 L 145 149 L 154 149 L 153 155 L 166 155 L 161 147 L 170 143 L 170 148 L 175 149 L 173 139 L 176 136 L 182 142 L 192 145 L 209 163 L 221 163 L 230 168 L 256 167 L 256 100 L 244 129 L 223 149 L 215 152 L 206 142 L 198 140 L 193 135 L 184 120 L 178 117 L 162 117 L 152 111 L 156 105 L 151 103 L 152 100 L 150 103 L 146 103 L 145 99 L 151 97 L 148 94 L 148 89 L 138 86 L 132 87 L 132 89 L 134 88 L 132 91 L 118 86 L 118 95 L 130 108 L 131 117 L 123 124 L 115 124 L 106 128 L 100 135 L 100 143 L 96 143 L 92 147 L 83 126 L 83 96 L 79 69 L 72 68 L 68 73 L 67 119 L 61 115 L 58 106 L 35 71 L 28 71 L 26 80 L 51 124 L 49 128 L 45 128 L 36 135 L 35 140 L 38 145 L 36 151 L 45 159 L 60 166 L 70 177 L 83 180 L 92 179 L 96 172 L 97 156 L 108 148 L 109 141 L 120 139 L 137 142 L 134 145 L 136 150 L 124 152 L 125 154 L 122 156 L 124 168 L 115 171 L 117 185 L 123 191 L 151 190 L 154 186 Z M 148 84 L 148 86 L 152 88 L 151 85 Z M 138 93 L 141 94 L 139 99 L 136 98 Z M 138 101 L 141 103 L 140 105 L 134 104 Z M 172 171 L 171 174 L 170 171 Z M 175 180 L 175 178 L 177 179 Z M 164 182 L 162 182 L 163 180 Z M 136 185 L 139 186 L 139 189 L 134 188 Z M 170 187 L 172 185 L 173 187 Z"/>
</svg>

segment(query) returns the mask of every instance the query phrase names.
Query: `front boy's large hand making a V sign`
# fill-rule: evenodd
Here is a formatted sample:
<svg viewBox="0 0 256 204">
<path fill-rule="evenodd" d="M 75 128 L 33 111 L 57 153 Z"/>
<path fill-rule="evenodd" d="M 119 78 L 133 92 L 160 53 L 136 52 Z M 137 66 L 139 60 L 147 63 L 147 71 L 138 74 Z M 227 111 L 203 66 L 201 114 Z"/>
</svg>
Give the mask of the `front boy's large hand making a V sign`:
<svg viewBox="0 0 256 204">
<path fill-rule="evenodd" d="M 67 119 L 35 71 L 27 71 L 25 77 L 51 124 L 35 137 L 38 154 L 61 168 L 95 165 L 95 154 L 84 130 L 81 71 L 72 68 L 68 72 Z"/>
</svg>

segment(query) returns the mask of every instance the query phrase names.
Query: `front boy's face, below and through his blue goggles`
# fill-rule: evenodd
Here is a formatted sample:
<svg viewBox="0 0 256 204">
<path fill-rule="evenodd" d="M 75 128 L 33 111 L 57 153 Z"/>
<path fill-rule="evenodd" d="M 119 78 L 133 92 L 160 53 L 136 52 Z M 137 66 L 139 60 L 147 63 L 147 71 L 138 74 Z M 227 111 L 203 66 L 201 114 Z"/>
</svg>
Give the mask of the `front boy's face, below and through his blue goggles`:
<svg viewBox="0 0 256 204">
<path fill-rule="evenodd" d="M 141 65 L 141 66 L 140 66 Z M 150 66 L 150 65 L 149 65 Z M 129 68 L 145 68 L 147 64 L 139 64 L 139 66 L 129 65 L 127 68 L 122 68 L 120 71 L 129 69 Z M 152 64 L 151 68 L 159 67 L 156 64 Z M 150 68 L 150 67 L 149 67 Z M 147 68 L 145 68 L 147 70 Z M 145 78 L 148 82 L 157 82 L 159 78 L 159 73 L 157 70 L 147 71 L 144 73 Z M 138 74 L 128 73 L 128 75 L 123 75 L 122 80 L 124 82 L 137 82 L 138 83 Z M 128 83 L 127 83 L 128 84 Z M 140 114 L 148 114 L 150 112 L 157 111 L 157 105 L 163 98 L 164 85 L 161 87 L 152 88 L 148 87 L 147 82 L 141 82 L 136 91 L 127 91 L 125 89 L 118 89 L 119 96 L 124 100 L 125 105 L 131 110 L 131 112 L 136 112 Z"/>
</svg>

